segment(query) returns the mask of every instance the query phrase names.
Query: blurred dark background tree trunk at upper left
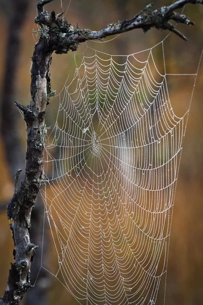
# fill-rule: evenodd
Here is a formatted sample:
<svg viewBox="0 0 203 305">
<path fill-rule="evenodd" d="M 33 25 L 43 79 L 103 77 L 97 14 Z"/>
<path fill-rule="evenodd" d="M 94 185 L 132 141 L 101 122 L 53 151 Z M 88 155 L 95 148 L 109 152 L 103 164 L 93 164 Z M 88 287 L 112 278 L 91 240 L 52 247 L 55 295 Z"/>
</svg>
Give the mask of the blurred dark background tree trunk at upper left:
<svg viewBox="0 0 203 305">
<path fill-rule="evenodd" d="M 19 111 L 16 108 L 16 79 L 19 63 L 22 28 L 28 12 L 29 0 L 12 0 L 12 16 L 9 19 L 8 42 L 6 48 L 5 73 L 1 104 L 1 132 L 11 177 L 19 168 L 24 170 L 25 152 L 19 129 Z M 14 132 L 15 131 L 15 132 Z"/>
</svg>

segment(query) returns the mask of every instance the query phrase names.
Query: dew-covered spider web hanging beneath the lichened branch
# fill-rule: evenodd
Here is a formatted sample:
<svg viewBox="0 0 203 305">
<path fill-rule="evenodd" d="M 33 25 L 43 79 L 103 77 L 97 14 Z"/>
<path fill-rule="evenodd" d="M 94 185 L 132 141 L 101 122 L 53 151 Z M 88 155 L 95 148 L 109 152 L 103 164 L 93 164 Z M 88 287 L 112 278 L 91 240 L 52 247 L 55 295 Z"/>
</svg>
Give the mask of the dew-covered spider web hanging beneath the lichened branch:
<svg viewBox="0 0 203 305">
<path fill-rule="evenodd" d="M 42 195 L 52 273 L 81 304 L 155 304 L 166 276 L 189 104 L 175 113 L 158 47 L 159 67 L 154 48 L 113 56 L 87 47 L 57 97 Z M 196 74 L 185 76 L 195 85 Z"/>
</svg>

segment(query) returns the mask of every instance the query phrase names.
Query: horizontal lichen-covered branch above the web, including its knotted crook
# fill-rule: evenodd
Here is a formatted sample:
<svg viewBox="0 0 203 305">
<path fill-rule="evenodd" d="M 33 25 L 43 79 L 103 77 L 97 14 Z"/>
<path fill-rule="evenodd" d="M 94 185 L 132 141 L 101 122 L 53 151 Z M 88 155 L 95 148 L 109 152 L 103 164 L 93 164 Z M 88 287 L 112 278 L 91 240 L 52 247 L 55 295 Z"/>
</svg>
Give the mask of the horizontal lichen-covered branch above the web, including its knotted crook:
<svg viewBox="0 0 203 305">
<path fill-rule="evenodd" d="M 40 2 L 41 6 L 42 4 L 43 2 Z M 170 22 L 170 20 L 174 20 L 177 23 L 194 25 L 189 17 L 175 12 L 176 9 L 180 9 L 186 4 L 203 4 L 203 0 L 179 0 L 170 6 L 164 6 L 154 11 L 151 10 L 153 4 L 150 4 L 132 19 L 111 23 L 107 28 L 98 32 L 90 29 L 73 28 L 65 18 L 59 19 L 59 16 L 54 12 L 49 14 L 47 11 L 43 11 L 36 17 L 35 22 L 45 25 L 45 28 L 42 28 L 42 34 L 50 37 L 50 43 L 54 46 L 54 51 L 60 54 L 66 53 L 70 49 L 76 50 L 81 42 L 95 39 L 102 40 L 108 36 L 128 32 L 136 28 L 142 28 L 144 33 L 152 27 L 160 30 L 166 29 L 187 40 Z"/>
</svg>

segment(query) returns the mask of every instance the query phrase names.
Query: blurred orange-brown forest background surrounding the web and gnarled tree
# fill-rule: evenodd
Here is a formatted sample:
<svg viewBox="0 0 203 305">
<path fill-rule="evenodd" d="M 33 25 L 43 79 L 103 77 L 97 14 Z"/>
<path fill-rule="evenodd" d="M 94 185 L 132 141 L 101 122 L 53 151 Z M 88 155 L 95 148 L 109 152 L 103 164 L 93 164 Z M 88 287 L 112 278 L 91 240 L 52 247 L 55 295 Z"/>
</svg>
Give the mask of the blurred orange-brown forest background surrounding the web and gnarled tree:
<svg viewBox="0 0 203 305">
<path fill-rule="evenodd" d="M 32 31 L 37 30 L 33 20 L 36 17 L 36 3 L 31 0 L 0 0 L 0 294 L 6 288 L 10 262 L 13 261 L 13 239 L 7 220 L 5 206 L 14 192 L 14 175 L 17 169 L 23 168 L 26 133 L 24 120 L 14 101 L 28 105 L 30 100 L 30 57 L 33 46 L 38 38 Z M 57 13 L 66 11 L 66 18 L 73 25 L 78 23 L 81 28 L 99 30 L 108 23 L 125 18 L 132 18 L 143 9 L 149 1 L 134 0 L 55 0 L 46 6 L 47 10 Z M 154 7 L 170 4 L 170 1 L 155 0 Z M 70 6 L 69 6 L 70 4 Z M 182 41 L 171 34 L 165 42 L 165 59 L 167 73 L 196 73 L 198 61 L 203 47 L 203 7 L 188 5 L 184 14 L 195 22 L 195 26 L 178 25 L 180 31 L 188 38 Z M 110 54 L 129 54 L 150 48 L 160 42 L 168 33 L 152 29 L 147 34 L 142 30 L 134 30 L 120 35 L 108 43 L 88 42 L 90 47 Z M 7 45 L 9 39 L 9 45 Z M 18 49 L 19 43 L 19 49 Z M 82 48 L 84 49 L 84 48 Z M 78 50 L 80 52 L 80 49 Z M 156 56 L 159 60 L 159 54 Z M 16 64 L 13 60 L 16 59 Z M 73 57 L 53 55 L 51 67 L 52 89 L 57 93 L 62 89 Z M 161 60 L 161 58 L 160 58 Z M 7 71 L 6 71 L 7 69 Z M 14 73 L 13 73 L 13 72 Z M 184 114 L 190 101 L 194 78 L 174 77 L 168 79 L 170 96 L 175 113 Z M 183 144 L 183 154 L 179 172 L 175 198 L 174 216 L 172 221 L 171 243 L 168 257 L 166 282 L 166 305 L 200 305 L 203 299 L 203 103 L 202 103 L 203 62 L 200 65 L 197 83 L 189 114 L 186 137 Z M 56 98 L 57 99 L 57 98 Z M 56 99 L 51 100 L 47 109 L 48 126 L 54 125 L 57 106 Z M 23 174 L 20 176 L 21 179 Z M 33 267 L 32 284 L 37 278 L 41 264 L 42 229 L 44 208 L 41 200 L 35 208 L 32 219 L 33 241 L 39 245 L 36 257 L 36 267 Z M 37 223 L 37 226 L 36 226 Z M 37 230 L 37 231 L 36 231 Z M 36 233 L 37 232 L 37 233 Z M 54 263 L 52 258 L 52 240 L 45 236 L 46 262 Z M 48 276 L 48 277 L 47 277 Z M 30 296 L 25 299 L 26 305 L 31 304 L 77 304 L 70 293 L 45 270 L 40 272 L 35 288 L 30 290 Z M 160 287 L 160 295 L 164 294 L 164 285 Z M 36 300 L 36 297 L 38 298 Z M 163 298 L 160 297 L 160 300 Z M 162 305 L 157 299 L 157 304 Z"/>
</svg>

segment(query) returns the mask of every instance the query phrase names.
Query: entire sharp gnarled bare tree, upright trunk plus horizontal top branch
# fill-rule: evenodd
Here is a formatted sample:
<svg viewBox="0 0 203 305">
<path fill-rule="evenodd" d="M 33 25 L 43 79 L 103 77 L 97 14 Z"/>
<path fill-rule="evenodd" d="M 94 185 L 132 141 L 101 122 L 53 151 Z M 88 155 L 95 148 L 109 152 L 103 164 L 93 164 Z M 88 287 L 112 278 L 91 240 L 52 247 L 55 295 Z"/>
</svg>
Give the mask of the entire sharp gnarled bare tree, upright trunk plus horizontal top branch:
<svg viewBox="0 0 203 305">
<path fill-rule="evenodd" d="M 31 68 L 31 102 L 25 107 L 19 103 L 16 106 L 24 113 L 27 126 L 27 153 L 25 178 L 18 191 L 8 205 L 8 218 L 13 221 L 11 228 L 15 242 L 15 263 L 11 265 L 8 287 L 0 305 L 19 304 L 30 287 L 30 264 L 35 255 L 36 246 L 30 243 L 30 215 L 36 197 L 41 188 L 43 177 L 43 157 L 47 129 L 45 125 L 45 110 L 52 95 L 50 85 L 50 64 L 52 53 L 62 54 L 76 50 L 81 42 L 89 39 L 102 39 L 110 35 L 143 28 L 147 32 L 151 27 L 168 29 L 186 39 L 178 32 L 169 20 L 184 24 L 194 24 L 182 14 L 174 12 L 185 4 L 203 3 L 203 0 L 180 0 L 168 7 L 151 11 L 151 5 L 134 16 L 131 20 L 123 20 L 110 24 L 98 32 L 89 29 L 73 28 L 62 14 L 51 14 L 43 10 L 43 5 L 53 0 L 40 1 L 37 4 L 38 17 L 35 22 L 41 25 L 41 37 L 32 55 Z"/>
</svg>

